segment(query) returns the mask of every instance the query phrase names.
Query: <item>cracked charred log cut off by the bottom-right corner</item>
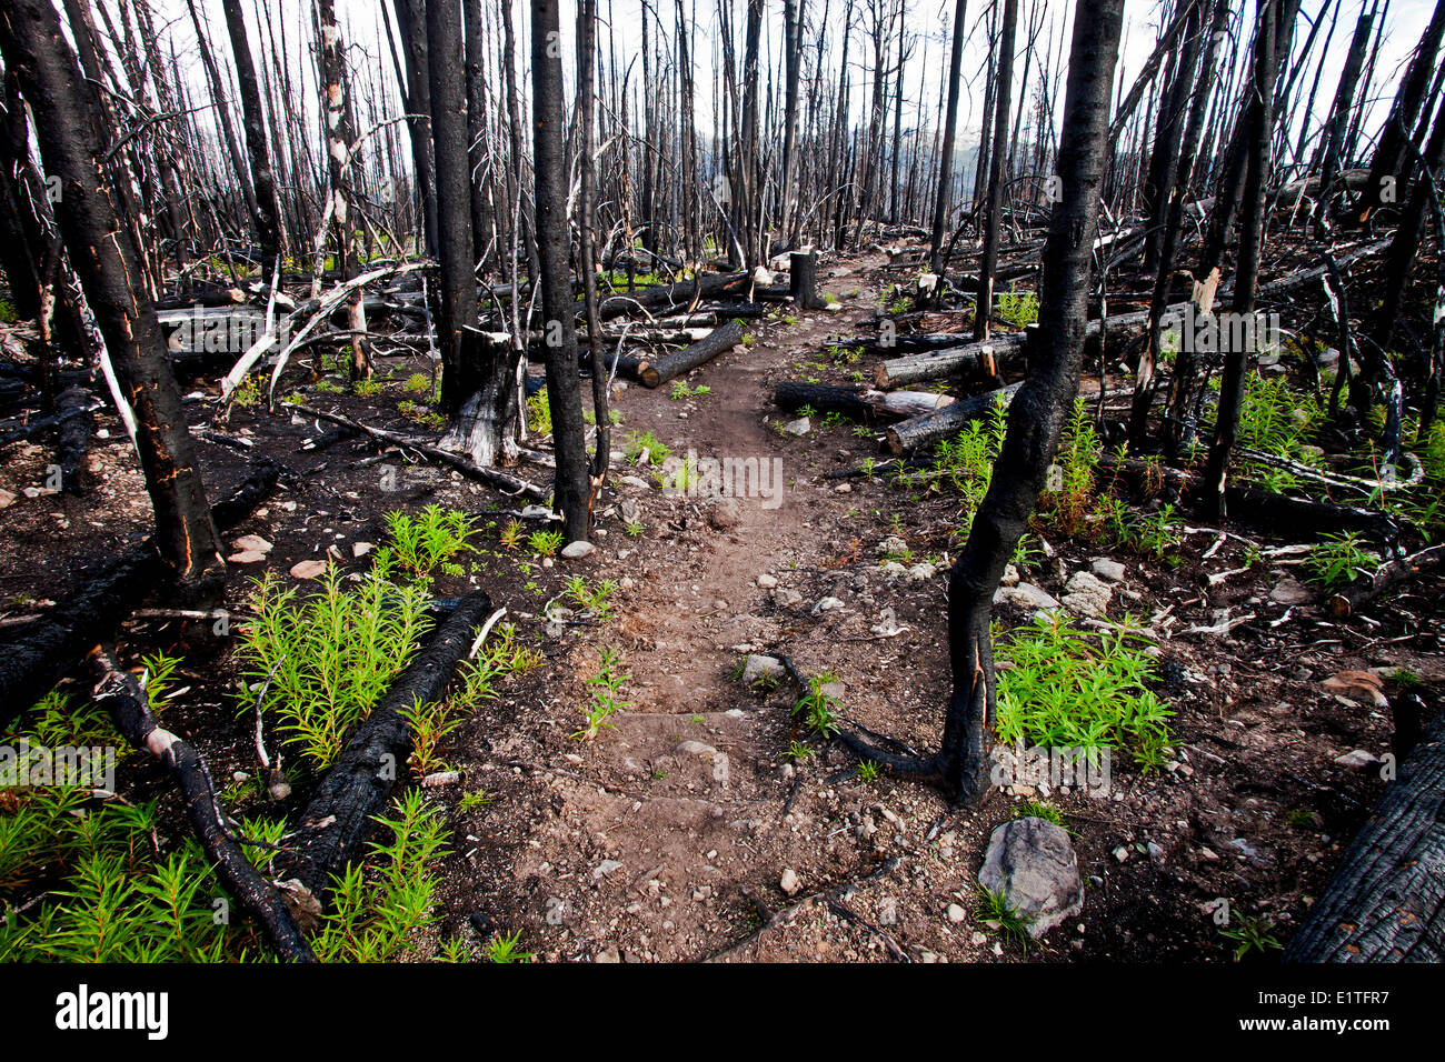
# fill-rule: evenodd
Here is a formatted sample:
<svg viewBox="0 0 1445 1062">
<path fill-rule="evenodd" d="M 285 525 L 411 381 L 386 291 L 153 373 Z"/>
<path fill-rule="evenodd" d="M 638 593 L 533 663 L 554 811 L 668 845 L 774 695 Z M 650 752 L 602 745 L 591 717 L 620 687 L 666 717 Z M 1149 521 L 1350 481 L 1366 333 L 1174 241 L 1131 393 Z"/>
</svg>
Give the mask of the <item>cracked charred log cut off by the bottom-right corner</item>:
<svg viewBox="0 0 1445 1062">
<path fill-rule="evenodd" d="M 1445 961 L 1445 714 L 1345 851 L 1285 962 Z"/>
</svg>

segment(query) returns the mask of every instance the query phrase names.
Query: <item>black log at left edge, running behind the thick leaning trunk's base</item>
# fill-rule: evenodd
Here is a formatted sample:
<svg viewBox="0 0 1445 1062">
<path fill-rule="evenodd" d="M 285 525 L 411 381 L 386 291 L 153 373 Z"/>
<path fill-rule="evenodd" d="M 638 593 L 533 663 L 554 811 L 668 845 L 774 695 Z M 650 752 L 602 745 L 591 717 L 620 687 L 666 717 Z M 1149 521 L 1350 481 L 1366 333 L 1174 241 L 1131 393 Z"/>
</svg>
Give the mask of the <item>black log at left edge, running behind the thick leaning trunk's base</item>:
<svg viewBox="0 0 1445 1062">
<path fill-rule="evenodd" d="M 234 527 L 267 497 L 280 465 L 266 459 L 230 497 L 211 506 L 217 530 Z M 134 604 L 165 579 L 165 565 L 152 539 L 81 575 L 74 592 L 0 643 L 0 728 L 45 696 L 97 642 L 110 637 Z"/>
</svg>

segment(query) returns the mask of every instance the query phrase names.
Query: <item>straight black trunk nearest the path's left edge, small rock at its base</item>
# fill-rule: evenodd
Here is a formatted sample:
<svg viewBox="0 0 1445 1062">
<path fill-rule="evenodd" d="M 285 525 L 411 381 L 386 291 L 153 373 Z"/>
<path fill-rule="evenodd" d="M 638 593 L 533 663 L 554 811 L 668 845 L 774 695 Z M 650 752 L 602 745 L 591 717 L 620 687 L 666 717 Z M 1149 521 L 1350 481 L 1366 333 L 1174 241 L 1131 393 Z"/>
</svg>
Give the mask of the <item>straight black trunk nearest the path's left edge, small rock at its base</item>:
<svg viewBox="0 0 1445 1062">
<path fill-rule="evenodd" d="M 566 155 L 562 144 L 562 35 L 558 1 L 532 0 L 533 165 L 536 168 L 538 253 L 542 315 L 549 335 L 546 397 L 556 446 L 553 506 L 568 542 L 587 539 L 587 449 L 582 396 L 577 379 L 577 327 L 568 269 Z M 555 329 L 555 331 L 553 331 Z"/>
</svg>

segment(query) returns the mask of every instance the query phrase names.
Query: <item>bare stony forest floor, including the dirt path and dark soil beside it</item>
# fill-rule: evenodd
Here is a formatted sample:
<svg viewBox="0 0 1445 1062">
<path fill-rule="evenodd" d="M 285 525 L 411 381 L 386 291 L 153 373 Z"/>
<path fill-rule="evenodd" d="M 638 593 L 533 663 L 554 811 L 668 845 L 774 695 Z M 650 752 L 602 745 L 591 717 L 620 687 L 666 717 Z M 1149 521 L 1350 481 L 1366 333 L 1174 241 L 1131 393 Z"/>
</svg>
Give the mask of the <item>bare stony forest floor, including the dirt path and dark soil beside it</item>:
<svg viewBox="0 0 1445 1062">
<path fill-rule="evenodd" d="M 500 546 L 496 527 L 514 503 L 491 488 L 394 455 L 363 464 L 376 449 L 357 439 L 302 451 L 318 428 L 283 405 L 233 412 L 224 431 L 254 441 L 293 475 L 227 535 L 275 543 L 262 564 L 230 566 L 231 607 L 241 607 L 263 568 L 285 575 L 328 548 L 360 571 L 367 561 L 354 559 L 353 546 L 384 540 L 384 511 L 441 503 L 488 529 L 470 569 L 441 575 L 436 595 L 486 588 L 545 655 L 543 668 L 506 678 L 499 696 L 448 737 L 444 751 L 464 780 L 426 790 L 447 806 L 452 829 L 439 864 L 439 939 L 475 936 L 478 926 L 520 931 L 526 949 L 552 961 L 1227 962 L 1234 942 L 1211 918 L 1214 900 L 1272 925 L 1283 942 L 1325 886 L 1384 786 L 1377 767 L 1337 757 L 1384 756 L 1394 727 L 1390 708 L 1357 686 L 1341 694 L 1322 683 L 1376 669 L 1381 699 L 1405 692 L 1405 681 L 1432 696 L 1445 681 L 1438 579 L 1335 623 L 1308 591 L 1292 597 L 1298 558 L 1241 559 L 1246 539 L 1267 549 L 1287 538 L 1247 529 L 1221 538 L 1189 526 L 1165 564 L 1045 533 L 1052 556 L 1020 572 L 1025 581 L 1064 597 L 1069 577 L 1095 559 L 1120 562 L 1108 616 L 1136 617 L 1156 637 L 1160 665 L 1172 665 L 1162 668 L 1170 681 L 1157 683 L 1175 712 L 1168 764 L 1144 773 L 1116 757 L 1104 798 L 1016 786 L 983 809 L 959 811 L 887 773 L 864 780 L 837 743 L 812 741 L 816 754 L 798 759 L 795 741 L 806 737 L 790 714 L 798 691 L 785 681 L 759 692 L 738 678 L 749 653 L 788 653 L 806 675 L 832 673 L 845 720 L 915 748 L 938 744 L 959 501 L 883 475 L 825 478 L 876 457 L 876 441 L 818 418 L 806 435 L 788 435 L 779 428 L 792 415 L 772 405 L 783 379 L 845 383 L 850 370 L 871 367 L 871 355 L 828 363 L 822 344 L 871 331 L 880 292 L 896 279 L 884 266 L 881 254 L 821 264 L 821 286 L 841 311 L 759 328 L 756 342 L 688 377 L 707 393 L 621 389 L 614 451 L 652 431 L 678 457 L 776 461 L 780 494 L 678 496 L 644 478 L 647 470 L 614 467 L 598 549 L 579 561 Z M 415 429 L 396 409 L 407 397 L 400 381 L 429 366 L 396 357 L 379 367 L 392 377 L 380 394 L 309 393 L 308 402 Z M 210 377 L 192 387 L 215 390 Z M 197 420 L 208 415 L 202 403 L 188 409 Z M 147 527 L 123 431 L 107 413 L 98 420 L 108 438 L 91 454 L 98 483 L 87 497 L 26 493 L 45 480 L 46 446 L 22 442 L 4 455 L 0 487 L 16 494 L 0 536 L 0 597 L 10 610 L 61 597 L 81 562 Z M 246 454 L 197 446 L 212 491 L 241 478 Z M 519 471 L 539 480 L 536 468 Z M 624 503 L 629 513 L 637 506 L 642 535 L 623 530 Z M 881 564 L 897 552 L 890 538 L 907 549 L 903 569 Z M 1240 568 L 1247 571 L 1208 585 L 1209 574 Z M 574 575 L 618 581 L 616 618 L 546 620 L 548 603 L 562 600 Z M 1215 624 L 1220 610 L 1256 618 L 1225 634 L 1188 633 Z M 1029 617 L 1003 605 L 998 618 L 1009 630 Z M 186 689 L 168 708 L 168 725 L 197 741 L 217 777 L 251 770 L 227 640 L 155 621 L 133 621 L 124 640 L 129 659 L 158 647 L 184 656 L 175 685 Z M 627 707 L 610 718 L 613 728 L 578 741 L 585 681 L 604 649 L 621 656 Z M 162 790 L 147 769 L 137 783 Z M 465 793 L 475 796 L 464 809 Z M 1042 796 L 1074 835 L 1085 902 L 1077 919 L 1025 952 L 981 920 L 977 874 L 990 832 Z"/>
</svg>

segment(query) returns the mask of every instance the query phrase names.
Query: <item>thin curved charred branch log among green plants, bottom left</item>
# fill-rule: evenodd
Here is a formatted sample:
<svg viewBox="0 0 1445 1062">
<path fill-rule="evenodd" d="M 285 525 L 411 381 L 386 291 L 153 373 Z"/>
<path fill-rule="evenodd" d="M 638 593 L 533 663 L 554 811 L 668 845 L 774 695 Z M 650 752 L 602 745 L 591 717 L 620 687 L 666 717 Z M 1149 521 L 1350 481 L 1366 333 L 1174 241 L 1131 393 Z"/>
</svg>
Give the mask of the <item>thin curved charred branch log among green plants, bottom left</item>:
<svg viewBox="0 0 1445 1062">
<path fill-rule="evenodd" d="M 315 962 L 311 945 L 301 935 L 286 903 L 231 837 L 215 799 L 215 786 L 205 760 L 185 738 L 165 730 L 152 714 L 134 676 L 121 670 L 108 652 L 97 646 L 90 653 L 95 675 L 95 704 L 104 708 L 116 730 L 131 746 L 165 764 L 181 790 L 186 819 L 197 832 L 217 877 L 241 907 L 260 923 L 266 941 L 288 962 Z"/>
</svg>

